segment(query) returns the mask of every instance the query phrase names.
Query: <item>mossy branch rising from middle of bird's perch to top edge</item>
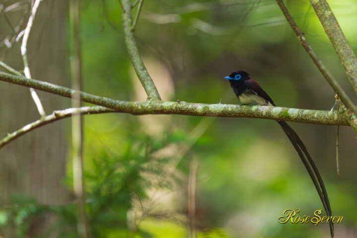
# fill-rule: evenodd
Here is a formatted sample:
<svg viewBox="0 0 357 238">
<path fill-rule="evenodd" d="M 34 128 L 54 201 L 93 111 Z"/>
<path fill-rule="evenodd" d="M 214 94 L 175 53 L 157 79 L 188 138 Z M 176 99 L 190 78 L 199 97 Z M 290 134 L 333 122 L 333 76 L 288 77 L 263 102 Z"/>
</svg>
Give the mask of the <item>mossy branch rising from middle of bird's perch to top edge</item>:
<svg viewBox="0 0 357 238">
<path fill-rule="evenodd" d="M 143 85 L 148 99 L 161 100 L 160 95 L 156 89 L 156 86 L 146 70 L 144 62 L 142 61 L 139 50 L 135 43 L 133 25 L 131 21 L 131 0 L 122 0 L 122 23 L 123 33 L 126 49 L 129 53 L 131 62 L 134 66 L 136 75 L 138 76 L 141 84 Z M 139 6 L 140 7 L 140 6 Z"/>
</svg>

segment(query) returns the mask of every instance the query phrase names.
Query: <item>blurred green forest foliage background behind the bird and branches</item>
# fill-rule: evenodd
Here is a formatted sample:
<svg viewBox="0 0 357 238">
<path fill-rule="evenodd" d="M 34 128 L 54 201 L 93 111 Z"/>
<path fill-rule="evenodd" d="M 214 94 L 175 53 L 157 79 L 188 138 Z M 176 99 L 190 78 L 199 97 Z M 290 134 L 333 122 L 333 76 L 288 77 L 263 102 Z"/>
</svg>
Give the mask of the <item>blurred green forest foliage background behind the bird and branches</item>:
<svg viewBox="0 0 357 238">
<path fill-rule="evenodd" d="M 329 3 L 356 52 L 356 1 Z M 312 48 L 356 102 L 309 2 L 289 0 L 287 5 Z M 118 0 L 83 0 L 81 8 L 83 91 L 135 100 L 137 79 L 123 41 Z M 69 29 L 69 22 L 67 25 Z M 333 90 L 299 45 L 274 0 L 145 1 L 135 35 L 144 62 L 160 62 L 171 75 L 153 78 L 157 85 L 172 81 L 175 93 L 165 100 L 238 104 L 222 77 L 240 69 L 249 72 L 279 106 L 330 110 L 334 104 Z M 63 38 L 70 45 L 69 30 Z M 338 178 L 337 128 L 291 124 L 320 169 L 333 214 L 344 217 L 344 223 L 335 226 L 336 237 L 352 237 L 357 233 L 353 130 L 340 128 Z M 202 126 L 202 135 L 192 139 L 191 133 Z M 179 151 L 189 145 L 189 150 L 174 166 L 181 177 L 173 173 L 171 180 L 164 168 L 177 159 L 170 150 L 173 145 Z M 172 153 L 153 163 L 152 155 L 165 148 Z M 278 223 L 286 209 L 299 208 L 301 215 L 312 215 L 322 205 L 297 153 L 274 121 L 106 114 L 84 117 L 87 209 L 94 237 L 187 237 L 187 176 L 193 158 L 199 161 L 198 237 L 329 236 L 326 224 Z M 69 188 L 70 165 L 68 161 L 68 178 L 63 179 Z M 143 176 L 143 172 L 154 177 Z M 155 183 L 157 177 L 163 182 Z M 154 199 L 152 189 L 172 195 L 155 200 L 152 208 L 145 203 Z M 138 209 L 140 201 L 143 210 Z M 14 197 L 13 203 L 1 209 L 0 224 L 17 226 L 19 237 L 40 213 L 58 217 L 44 236 L 59 233 L 60 237 L 76 237 L 74 204 L 43 206 L 23 196 Z M 155 214 L 140 216 L 150 209 Z M 130 211 L 136 215 L 134 230 L 128 228 Z"/>
</svg>

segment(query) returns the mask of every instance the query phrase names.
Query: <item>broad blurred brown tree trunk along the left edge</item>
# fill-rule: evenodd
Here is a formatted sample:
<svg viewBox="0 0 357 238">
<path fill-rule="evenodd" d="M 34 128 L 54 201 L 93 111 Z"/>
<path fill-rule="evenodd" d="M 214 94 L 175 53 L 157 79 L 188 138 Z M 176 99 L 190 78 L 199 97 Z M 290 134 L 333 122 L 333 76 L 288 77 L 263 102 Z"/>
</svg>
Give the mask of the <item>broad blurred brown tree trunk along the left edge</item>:
<svg viewBox="0 0 357 238">
<path fill-rule="evenodd" d="M 12 2 L 11 2 L 12 3 Z M 66 1 L 41 2 L 31 30 L 27 48 L 32 77 L 43 81 L 69 85 L 66 59 L 66 35 L 64 17 L 67 12 Z M 13 26 L 23 14 L 22 11 L 8 12 Z M 25 23 L 27 23 L 26 18 Z M 26 24 L 25 24 L 26 25 Z M 11 30 L 4 20 L 0 27 Z M 4 30 L 5 31 L 5 30 Z M 1 33 L 4 32 L 1 30 Z M 22 71 L 20 41 L 6 54 L 5 62 Z M 4 47 L 3 47 L 4 48 Z M 5 49 L 0 49 L 3 56 Z M 37 92 L 47 114 L 64 109 L 70 101 L 44 92 Z M 25 100 L 24 100 L 25 99 Z M 11 84 L 0 84 L 0 135 L 22 127 L 40 115 L 28 88 Z M 63 184 L 67 156 L 68 120 L 48 125 L 33 133 L 22 136 L 0 150 L 0 201 L 9 204 L 13 194 L 27 194 L 45 204 L 62 204 L 68 201 L 70 193 Z M 53 223 L 54 218 L 44 216 L 36 219 L 27 237 L 37 237 Z M 14 227 L 5 229 L 4 237 L 16 237 Z"/>
</svg>

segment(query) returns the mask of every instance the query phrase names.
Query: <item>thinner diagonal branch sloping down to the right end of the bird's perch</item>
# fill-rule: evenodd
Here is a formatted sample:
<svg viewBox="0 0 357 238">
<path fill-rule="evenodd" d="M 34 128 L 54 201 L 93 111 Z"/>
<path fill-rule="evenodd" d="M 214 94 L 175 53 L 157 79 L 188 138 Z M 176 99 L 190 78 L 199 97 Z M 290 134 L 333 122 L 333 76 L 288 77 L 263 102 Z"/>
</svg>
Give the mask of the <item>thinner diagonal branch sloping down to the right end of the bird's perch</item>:
<svg viewBox="0 0 357 238">
<path fill-rule="evenodd" d="M 352 103 L 351 99 L 347 96 L 345 91 L 338 84 L 338 82 L 333 77 L 331 72 L 327 69 L 327 67 L 321 62 L 321 60 L 317 57 L 315 52 L 312 50 L 311 46 L 308 44 L 304 35 L 302 34 L 301 30 L 298 28 L 297 23 L 295 22 L 294 18 L 290 14 L 288 8 L 285 6 L 283 0 L 276 0 L 276 1 L 277 1 L 278 5 L 280 6 L 280 9 L 283 11 L 290 26 L 292 27 L 295 34 L 297 35 L 297 38 L 298 38 L 299 42 L 301 43 L 302 47 L 305 49 L 305 51 L 310 56 L 310 58 L 314 61 L 315 65 L 318 67 L 318 69 L 320 70 L 322 75 L 325 77 L 327 82 L 330 84 L 330 86 L 333 88 L 335 93 L 340 97 L 343 104 L 357 115 L 356 106 Z M 352 126 L 356 127 L 356 125 L 352 125 Z"/>
</svg>

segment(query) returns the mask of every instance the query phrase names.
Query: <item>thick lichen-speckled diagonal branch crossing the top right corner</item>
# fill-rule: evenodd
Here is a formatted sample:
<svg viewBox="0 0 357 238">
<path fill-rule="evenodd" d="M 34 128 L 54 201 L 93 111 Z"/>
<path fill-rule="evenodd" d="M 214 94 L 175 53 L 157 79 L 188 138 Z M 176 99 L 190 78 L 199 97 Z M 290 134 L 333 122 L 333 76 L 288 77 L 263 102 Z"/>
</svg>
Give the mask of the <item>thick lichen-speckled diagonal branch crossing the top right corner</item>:
<svg viewBox="0 0 357 238">
<path fill-rule="evenodd" d="M 357 59 L 326 0 L 310 0 L 357 93 Z"/>
</svg>

